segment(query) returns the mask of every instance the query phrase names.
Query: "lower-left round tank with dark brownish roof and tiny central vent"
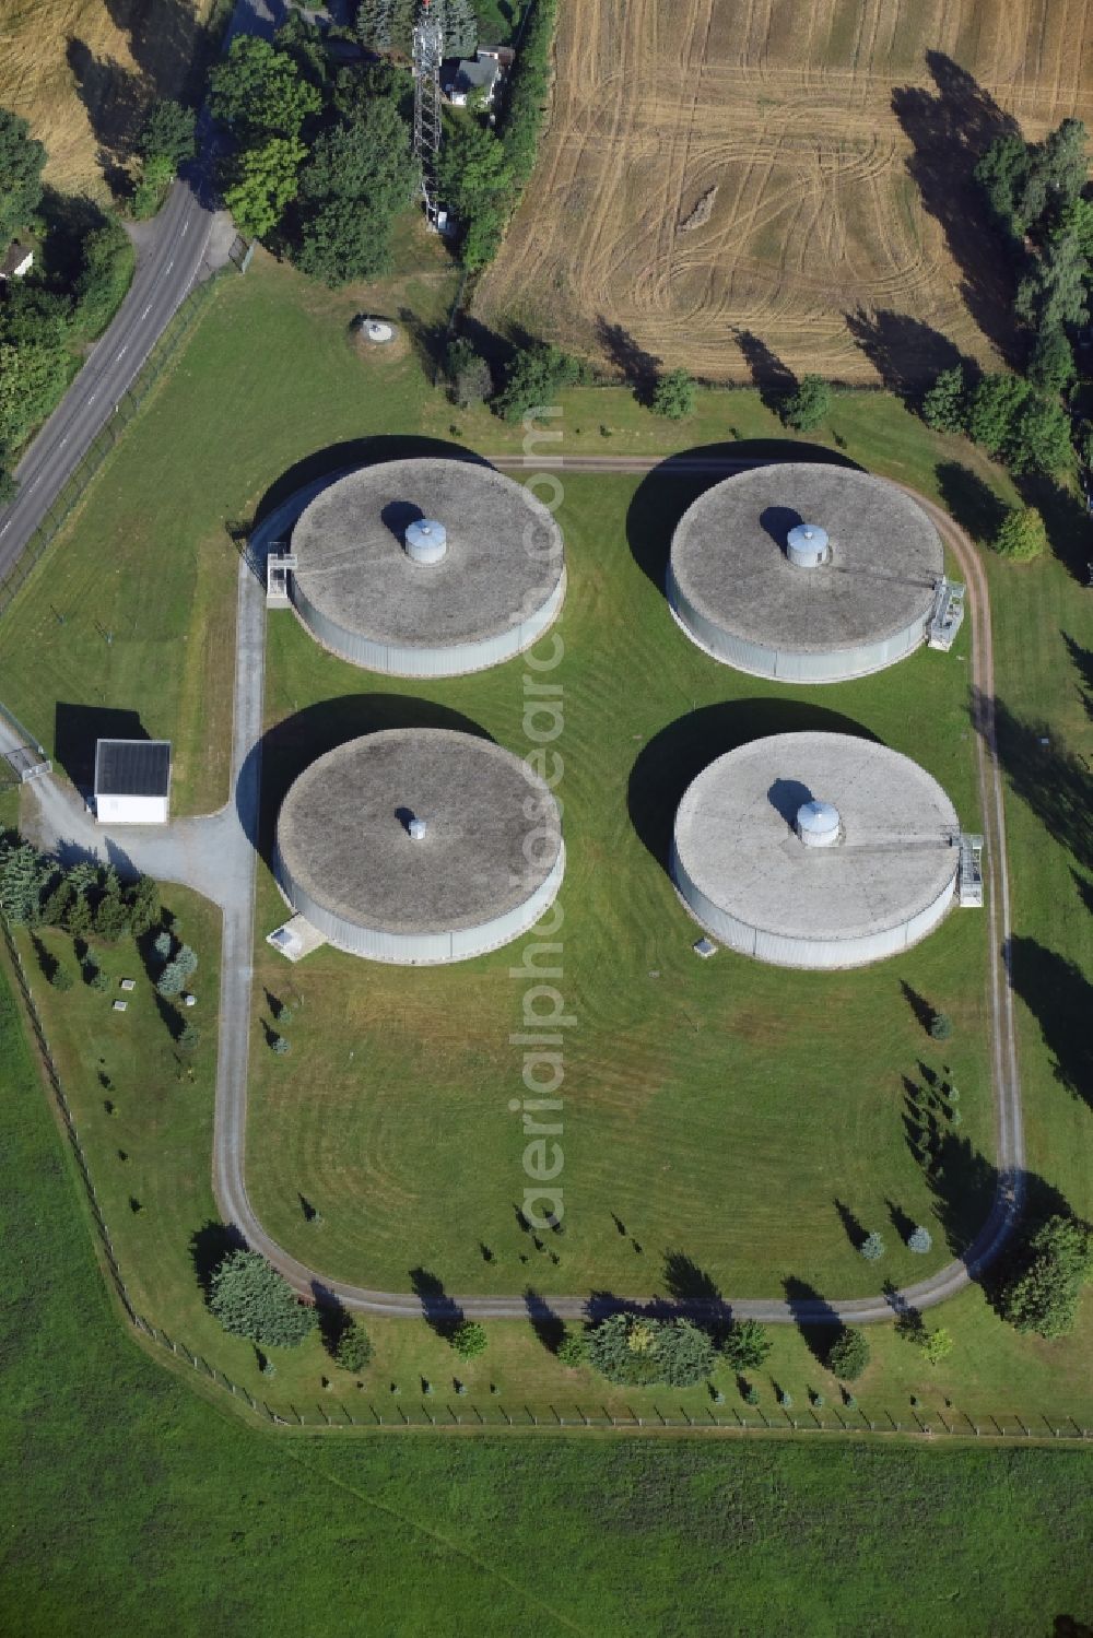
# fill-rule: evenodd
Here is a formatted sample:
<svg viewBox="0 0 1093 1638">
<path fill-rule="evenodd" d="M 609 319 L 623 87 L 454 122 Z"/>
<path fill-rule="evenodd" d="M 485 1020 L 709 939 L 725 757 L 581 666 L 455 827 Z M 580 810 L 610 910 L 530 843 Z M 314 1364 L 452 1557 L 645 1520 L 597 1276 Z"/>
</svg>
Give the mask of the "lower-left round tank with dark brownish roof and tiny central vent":
<svg viewBox="0 0 1093 1638">
<path fill-rule="evenodd" d="M 274 875 L 339 950 L 462 962 L 533 927 L 565 870 L 559 808 L 511 752 L 390 729 L 306 768 L 277 819 Z"/>
</svg>

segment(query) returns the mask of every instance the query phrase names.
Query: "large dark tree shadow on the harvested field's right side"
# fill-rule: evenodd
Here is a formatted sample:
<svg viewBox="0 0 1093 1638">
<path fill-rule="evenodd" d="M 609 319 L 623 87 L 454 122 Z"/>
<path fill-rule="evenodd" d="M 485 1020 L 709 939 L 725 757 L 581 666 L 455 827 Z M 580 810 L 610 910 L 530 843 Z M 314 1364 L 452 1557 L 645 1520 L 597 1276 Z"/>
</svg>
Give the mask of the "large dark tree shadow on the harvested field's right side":
<svg viewBox="0 0 1093 1638">
<path fill-rule="evenodd" d="M 911 141 L 908 172 L 960 269 L 968 313 L 1016 364 L 1013 267 L 973 170 L 996 138 L 1018 134 L 1018 124 L 952 57 L 927 51 L 926 64 L 936 93 L 921 85 L 900 85 L 891 93 L 893 113 Z"/>
</svg>

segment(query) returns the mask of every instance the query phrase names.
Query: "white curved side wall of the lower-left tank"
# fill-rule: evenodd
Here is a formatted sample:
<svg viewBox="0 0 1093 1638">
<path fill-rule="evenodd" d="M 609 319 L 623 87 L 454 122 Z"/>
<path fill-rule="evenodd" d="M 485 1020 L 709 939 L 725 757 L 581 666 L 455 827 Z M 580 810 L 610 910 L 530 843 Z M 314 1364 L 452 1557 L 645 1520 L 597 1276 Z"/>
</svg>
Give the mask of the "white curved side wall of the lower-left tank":
<svg viewBox="0 0 1093 1638">
<path fill-rule="evenodd" d="M 519 939 L 523 932 L 544 916 L 562 886 L 565 875 L 565 844 L 559 845 L 559 855 L 551 875 L 536 888 L 531 898 L 524 899 L 505 916 L 482 922 L 477 927 L 460 927 L 456 932 L 441 934 L 393 934 L 374 927 L 359 927 L 356 922 L 331 914 L 316 904 L 310 894 L 292 880 L 280 857 L 280 848 L 274 850 L 274 876 L 285 901 L 297 914 L 311 922 L 336 950 L 346 955 L 364 955 L 370 962 L 387 962 L 395 966 L 436 966 L 442 962 L 467 962 L 474 955 L 485 955 L 488 950 L 500 950 L 501 945 Z"/>
</svg>

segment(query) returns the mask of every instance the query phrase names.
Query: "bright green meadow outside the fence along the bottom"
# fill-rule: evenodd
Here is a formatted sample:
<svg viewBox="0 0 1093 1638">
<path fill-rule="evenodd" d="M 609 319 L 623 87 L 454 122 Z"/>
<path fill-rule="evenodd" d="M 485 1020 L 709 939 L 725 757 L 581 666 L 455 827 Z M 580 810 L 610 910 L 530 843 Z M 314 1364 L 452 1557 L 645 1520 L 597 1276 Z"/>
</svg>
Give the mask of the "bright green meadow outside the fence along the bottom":
<svg viewBox="0 0 1093 1638">
<path fill-rule="evenodd" d="M 7 984 L 0 1102 L 11 1638 L 1024 1638 L 1088 1617 L 1085 1451 L 246 1428 L 118 1325 Z"/>
</svg>

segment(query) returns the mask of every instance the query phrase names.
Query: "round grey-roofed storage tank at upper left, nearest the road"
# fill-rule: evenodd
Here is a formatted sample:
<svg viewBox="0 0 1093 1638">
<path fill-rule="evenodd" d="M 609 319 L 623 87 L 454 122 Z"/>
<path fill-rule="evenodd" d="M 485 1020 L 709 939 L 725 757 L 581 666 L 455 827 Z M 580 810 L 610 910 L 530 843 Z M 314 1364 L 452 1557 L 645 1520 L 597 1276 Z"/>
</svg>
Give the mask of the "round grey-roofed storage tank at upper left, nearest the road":
<svg viewBox="0 0 1093 1638">
<path fill-rule="evenodd" d="M 498 665 L 542 636 L 565 596 L 551 513 L 469 460 L 387 460 L 339 478 L 300 514 L 292 550 L 288 595 L 308 631 L 390 676 Z"/>
</svg>

